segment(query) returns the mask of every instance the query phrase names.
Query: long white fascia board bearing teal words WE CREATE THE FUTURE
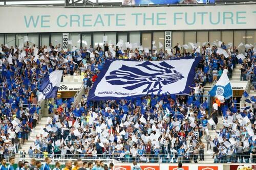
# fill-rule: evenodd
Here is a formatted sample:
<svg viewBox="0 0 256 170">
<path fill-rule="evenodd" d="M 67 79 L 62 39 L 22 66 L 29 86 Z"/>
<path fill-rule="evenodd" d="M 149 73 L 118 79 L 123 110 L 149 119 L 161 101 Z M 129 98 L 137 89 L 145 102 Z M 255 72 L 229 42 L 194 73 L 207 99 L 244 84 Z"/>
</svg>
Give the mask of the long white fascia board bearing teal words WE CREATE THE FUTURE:
<svg viewBox="0 0 256 170">
<path fill-rule="evenodd" d="M 0 7 L 0 33 L 255 29 L 256 4 L 177 7 Z M 18 26 L 18 27 L 16 27 Z"/>
</svg>

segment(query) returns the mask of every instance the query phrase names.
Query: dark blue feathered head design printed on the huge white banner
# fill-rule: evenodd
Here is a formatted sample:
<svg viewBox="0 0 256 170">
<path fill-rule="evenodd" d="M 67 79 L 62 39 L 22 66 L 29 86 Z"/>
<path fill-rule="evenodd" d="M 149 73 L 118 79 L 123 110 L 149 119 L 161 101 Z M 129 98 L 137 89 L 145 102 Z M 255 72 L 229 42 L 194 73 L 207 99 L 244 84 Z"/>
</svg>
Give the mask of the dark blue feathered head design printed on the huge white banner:
<svg viewBox="0 0 256 170">
<path fill-rule="evenodd" d="M 175 83 L 183 78 L 180 72 L 177 72 L 172 65 L 164 61 L 159 64 L 145 61 L 136 65 L 136 67 L 122 64 L 117 70 L 111 71 L 110 76 L 105 77 L 106 82 L 112 85 L 120 85 L 127 90 L 134 90 L 147 85 L 142 91 L 147 91 L 147 93 L 159 91 L 163 86 Z"/>
</svg>

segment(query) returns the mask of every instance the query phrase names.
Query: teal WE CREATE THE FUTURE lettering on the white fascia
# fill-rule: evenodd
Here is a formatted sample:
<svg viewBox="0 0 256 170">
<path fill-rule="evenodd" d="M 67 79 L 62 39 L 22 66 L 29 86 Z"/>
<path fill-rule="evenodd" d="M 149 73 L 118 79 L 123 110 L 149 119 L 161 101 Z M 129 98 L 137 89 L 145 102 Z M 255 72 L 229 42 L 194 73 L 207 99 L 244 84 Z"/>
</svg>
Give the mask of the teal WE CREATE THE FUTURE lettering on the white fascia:
<svg viewBox="0 0 256 170">
<path fill-rule="evenodd" d="M 252 11 L 251 14 L 256 17 L 256 11 Z M 24 23 L 26 28 L 246 25 L 249 22 L 248 15 L 247 11 L 24 15 Z"/>
</svg>

